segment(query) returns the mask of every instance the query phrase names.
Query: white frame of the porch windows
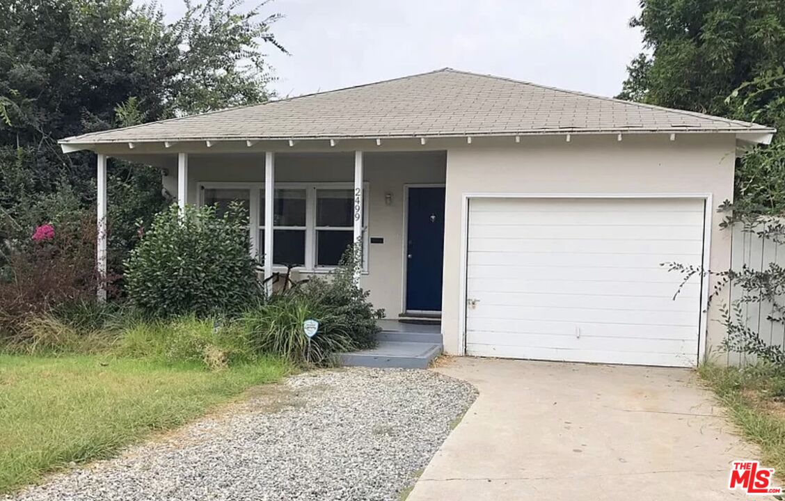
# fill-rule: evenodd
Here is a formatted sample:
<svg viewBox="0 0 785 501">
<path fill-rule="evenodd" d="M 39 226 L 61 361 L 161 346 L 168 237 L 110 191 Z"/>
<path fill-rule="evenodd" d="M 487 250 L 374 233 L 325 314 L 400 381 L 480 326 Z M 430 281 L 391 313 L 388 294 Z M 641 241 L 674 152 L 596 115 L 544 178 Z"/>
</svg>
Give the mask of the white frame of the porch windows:
<svg viewBox="0 0 785 501">
<path fill-rule="evenodd" d="M 265 191 L 265 183 L 256 182 L 225 182 L 225 181 L 202 181 L 197 183 L 199 186 L 199 207 L 204 205 L 204 191 L 206 189 L 247 189 L 250 191 L 250 247 L 251 253 L 254 258 L 259 255 L 261 249 L 261 242 L 259 241 L 259 232 L 265 229 L 265 221 L 260 221 L 259 213 L 261 211 L 261 193 Z M 351 192 L 354 191 L 354 184 L 349 182 L 324 182 L 324 183 L 308 183 L 308 182 L 287 182 L 276 183 L 275 189 L 305 189 L 305 266 L 298 266 L 294 268 L 299 272 L 307 273 L 327 273 L 335 269 L 335 266 L 316 266 L 316 230 L 330 230 L 330 231 L 352 231 L 352 226 L 347 226 L 346 229 L 337 229 L 329 226 L 316 226 L 316 190 L 318 189 L 346 189 Z M 363 182 L 363 274 L 368 273 L 368 249 L 371 243 L 368 231 L 369 221 L 369 194 L 371 187 L 367 182 Z M 254 231 L 254 228 L 256 231 Z M 276 226 L 274 229 L 299 229 L 301 226 Z M 280 265 L 274 265 L 273 271 L 281 272 L 286 271 L 286 268 Z"/>
</svg>

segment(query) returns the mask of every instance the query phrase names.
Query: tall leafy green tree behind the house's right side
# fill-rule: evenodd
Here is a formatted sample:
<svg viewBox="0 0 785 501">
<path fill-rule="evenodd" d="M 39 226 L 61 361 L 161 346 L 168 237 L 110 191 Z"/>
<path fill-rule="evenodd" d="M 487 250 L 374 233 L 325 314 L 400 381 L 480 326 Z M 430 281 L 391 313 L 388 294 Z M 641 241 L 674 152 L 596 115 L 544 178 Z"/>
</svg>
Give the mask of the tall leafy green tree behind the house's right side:
<svg viewBox="0 0 785 501">
<path fill-rule="evenodd" d="M 619 97 L 785 130 L 783 0 L 641 0 Z M 736 213 L 785 213 L 785 134 L 737 163 Z"/>
</svg>

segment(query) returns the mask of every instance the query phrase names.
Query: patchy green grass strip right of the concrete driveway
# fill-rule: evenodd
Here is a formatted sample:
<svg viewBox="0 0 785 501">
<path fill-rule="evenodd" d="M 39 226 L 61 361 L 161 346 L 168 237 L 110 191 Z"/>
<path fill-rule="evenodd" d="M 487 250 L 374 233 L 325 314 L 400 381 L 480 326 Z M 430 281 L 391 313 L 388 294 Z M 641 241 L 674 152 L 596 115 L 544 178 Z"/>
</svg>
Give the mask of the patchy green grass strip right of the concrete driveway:
<svg viewBox="0 0 785 501">
<path fill-rule="evenodd" d="M 764 465 L 785 480 L 785 370 L 704 365 L 699 374 L 743 436 L 761 447 Z"/>
</svg>

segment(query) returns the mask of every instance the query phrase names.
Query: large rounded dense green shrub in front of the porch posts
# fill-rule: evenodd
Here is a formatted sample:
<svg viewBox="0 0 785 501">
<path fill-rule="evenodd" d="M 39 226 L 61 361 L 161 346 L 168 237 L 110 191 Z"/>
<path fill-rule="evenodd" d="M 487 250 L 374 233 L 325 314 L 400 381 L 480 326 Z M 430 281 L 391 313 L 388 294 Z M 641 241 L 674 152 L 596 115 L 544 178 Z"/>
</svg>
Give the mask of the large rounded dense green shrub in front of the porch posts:
<svg viewBox="0 0 785 501">
<path fill-rule="evenodd" d="M 129 297 L 153 316 L 239 313 L 259 294 L 247 224 L 239 204 L 164 210 L 126 261 Z"/>
</svg>

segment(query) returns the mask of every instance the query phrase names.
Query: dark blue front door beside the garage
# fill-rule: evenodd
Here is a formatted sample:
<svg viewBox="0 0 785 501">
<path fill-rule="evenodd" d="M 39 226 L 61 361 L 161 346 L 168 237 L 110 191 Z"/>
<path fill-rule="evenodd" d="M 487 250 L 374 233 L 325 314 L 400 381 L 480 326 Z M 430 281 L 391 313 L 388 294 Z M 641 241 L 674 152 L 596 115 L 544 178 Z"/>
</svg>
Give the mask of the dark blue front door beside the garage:
<svg viewBox="0 0 785 501">
<path fill-rule="evenodd" d="M 406 310 L 440 312 L 444 187 L 409 188 Z"/>
</svg>

